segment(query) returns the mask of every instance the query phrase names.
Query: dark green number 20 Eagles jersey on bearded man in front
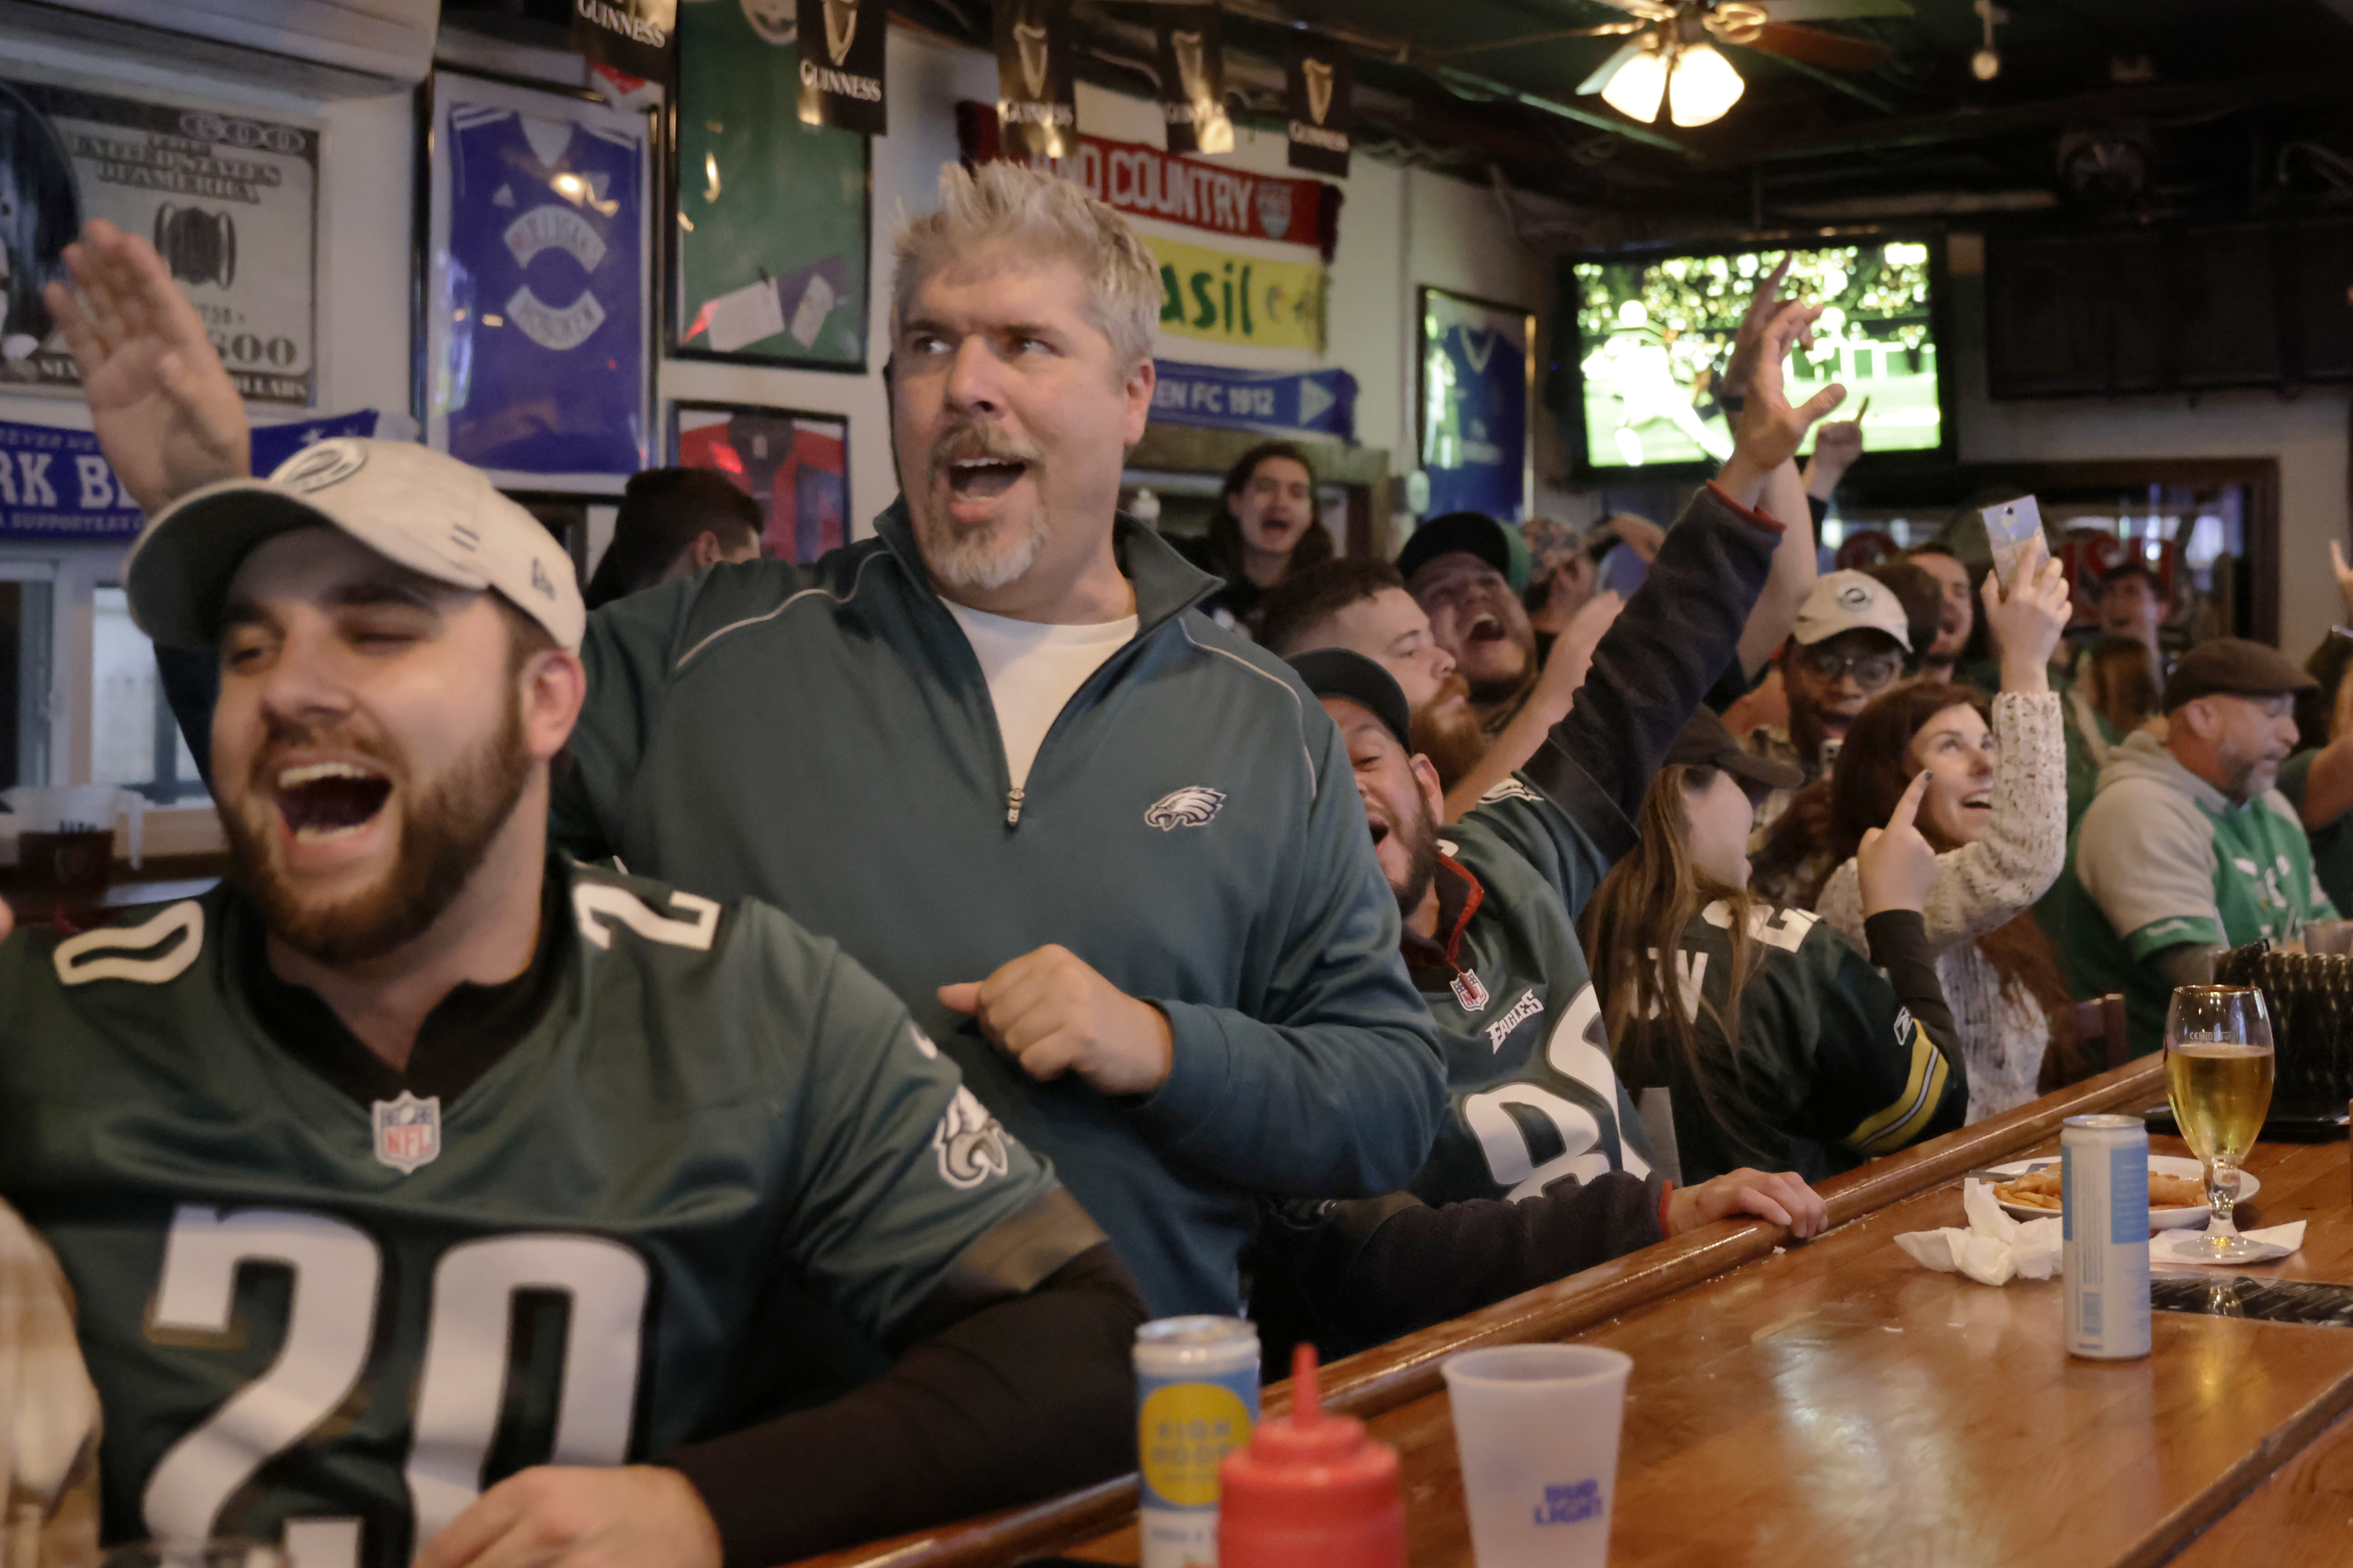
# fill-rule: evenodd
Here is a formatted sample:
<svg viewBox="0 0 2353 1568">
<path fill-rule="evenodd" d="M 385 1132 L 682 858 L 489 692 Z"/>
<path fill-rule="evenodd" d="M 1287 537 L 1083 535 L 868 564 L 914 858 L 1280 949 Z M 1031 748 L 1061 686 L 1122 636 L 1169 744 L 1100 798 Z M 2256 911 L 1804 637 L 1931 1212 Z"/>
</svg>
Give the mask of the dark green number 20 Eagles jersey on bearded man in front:
<svg viewBox="0 0 2353 1568">
<path fill-rule="evenodd" d="M 1054 1187 L 831 940 L 548 875 L 555 999 L 449 1105 L 273 1044 L 233 893 L 0 945 L 0 1199 L 78 1298 L 111 1540 L 405 1566 L 525 1465 L 774 1415 L 786 1286 L 889 1342 Z"/>
</svg>

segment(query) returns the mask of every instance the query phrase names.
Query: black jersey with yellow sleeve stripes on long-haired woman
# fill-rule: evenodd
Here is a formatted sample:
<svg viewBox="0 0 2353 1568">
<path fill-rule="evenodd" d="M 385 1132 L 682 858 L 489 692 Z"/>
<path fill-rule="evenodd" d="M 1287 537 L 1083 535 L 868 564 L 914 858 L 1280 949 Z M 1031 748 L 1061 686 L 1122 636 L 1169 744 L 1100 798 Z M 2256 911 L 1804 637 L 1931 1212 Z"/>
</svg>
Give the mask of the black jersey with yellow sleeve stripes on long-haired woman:
<svg viewBox="0 0 2353 1568">
<path fill-rule="evenodd" d="M 1628 1081 L 1673 1091 L 1687 1182 L 1737 1166 L 1821 1178 L 1962 1124 L 1967 1084 L 1835 926 L 1760 903 L 1748 936 L 1755 969 L 1741 990 L 1737 1063 L 1715 1023 L 1732 983 L 1732 905 L 1694 914 L 1675 952 L 1706 1093 L 1664 1020 L 1628 1027 L 1619 1048 Z"/>
</svg>

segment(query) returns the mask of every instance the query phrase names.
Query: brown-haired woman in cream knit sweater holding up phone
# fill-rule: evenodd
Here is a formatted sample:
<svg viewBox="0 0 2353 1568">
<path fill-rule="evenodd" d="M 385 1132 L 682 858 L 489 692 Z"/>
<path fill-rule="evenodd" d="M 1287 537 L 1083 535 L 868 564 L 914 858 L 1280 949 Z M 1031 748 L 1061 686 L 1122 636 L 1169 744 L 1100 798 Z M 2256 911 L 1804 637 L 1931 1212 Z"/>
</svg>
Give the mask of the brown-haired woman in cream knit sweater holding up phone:
<svg viewBox="0 0 2353 1568">
<path fill-rule="evenodd" d="M 2002 693 L 1915 682 L 1854 719 L 1831 780 L 1828 844 L 1842 865 L 1814 907 L 1859 936 L 1864 896 L 1849 858 L 1922 771 L 1920 832 L 1937 846 L 1925 917 L 1937 978 L 1969 1070 L 1969 1119 L 2040 1093 L 2052 1020 L 2068 1006 L 2049 938 L 2028 912 L 2066 865 L 2066 743 L 2047 661 L 2066 630 L 2066 581 L 2040 552 L 2002 597 L 1986 578 L 1986 623 Z"/>
</svg>

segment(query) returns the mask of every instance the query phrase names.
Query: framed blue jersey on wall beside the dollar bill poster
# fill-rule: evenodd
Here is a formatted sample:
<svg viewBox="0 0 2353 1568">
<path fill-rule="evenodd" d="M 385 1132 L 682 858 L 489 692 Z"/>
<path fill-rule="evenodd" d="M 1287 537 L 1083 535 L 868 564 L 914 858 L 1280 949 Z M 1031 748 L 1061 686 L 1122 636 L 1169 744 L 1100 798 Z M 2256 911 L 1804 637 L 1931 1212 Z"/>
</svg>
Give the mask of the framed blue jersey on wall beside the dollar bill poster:
<svg viewBox="0 0 2353 1568">
<path fill-rule="evenodd" d="M 438 71 L 416 414 L 501 484 L 652 461 L 652 115 Z"/>
</svg>

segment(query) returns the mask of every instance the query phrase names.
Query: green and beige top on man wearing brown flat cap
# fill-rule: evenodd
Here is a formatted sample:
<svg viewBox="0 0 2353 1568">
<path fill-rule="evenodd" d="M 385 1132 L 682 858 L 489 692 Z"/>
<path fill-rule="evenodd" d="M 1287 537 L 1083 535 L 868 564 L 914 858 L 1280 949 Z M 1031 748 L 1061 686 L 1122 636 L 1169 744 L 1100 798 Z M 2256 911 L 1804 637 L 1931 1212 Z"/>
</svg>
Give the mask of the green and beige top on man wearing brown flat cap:
<svg viewBox="0 0 2353 1568">
<path fill-rule="evenodd" d="M 2238 804 L 2153 736 L 2127 736 L 2035 910 L 2078 997 L 2122 992 L 2134 1051 L 2165 1041 L 2174 983 L 2158 954 L 2181 945 L 2285 940 L 2337 905 L 2313 877 L 2294 806 L 2271 790 Z"/>
</svg>

